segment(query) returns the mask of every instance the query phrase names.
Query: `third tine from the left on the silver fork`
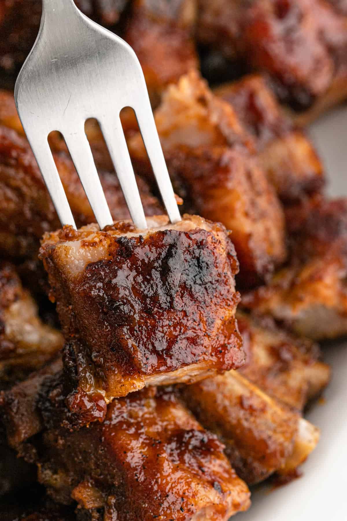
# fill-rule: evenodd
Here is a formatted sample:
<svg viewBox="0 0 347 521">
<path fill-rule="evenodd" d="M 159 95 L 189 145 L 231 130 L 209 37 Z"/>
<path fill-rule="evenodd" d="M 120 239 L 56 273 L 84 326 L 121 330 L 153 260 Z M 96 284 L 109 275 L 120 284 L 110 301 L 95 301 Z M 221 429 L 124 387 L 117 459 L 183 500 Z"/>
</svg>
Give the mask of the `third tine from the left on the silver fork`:
<svg viewBox="0 0 347 521">
<path fill-rule="evenodd" d="M 115 122 L 101 120 L 100 128 L 110 152 L 114 169 L 117 172 L 117 177 L 131 218 L 137 228 L 140 230 L 146 230 L 146 217 L 137 188 L 133 165 L 128 152 L 121 120 L 119 117 Z"/>
</svg>

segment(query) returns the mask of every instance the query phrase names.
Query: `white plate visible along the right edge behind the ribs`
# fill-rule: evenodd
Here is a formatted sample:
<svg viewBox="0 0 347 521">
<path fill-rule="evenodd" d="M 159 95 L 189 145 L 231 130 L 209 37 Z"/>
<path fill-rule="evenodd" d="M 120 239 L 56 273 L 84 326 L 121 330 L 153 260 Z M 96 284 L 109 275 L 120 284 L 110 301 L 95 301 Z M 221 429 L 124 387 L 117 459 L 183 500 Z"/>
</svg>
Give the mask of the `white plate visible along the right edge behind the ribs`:
<svg viewBox="0 0 347 521">
<path fill-rule="evenodd" d="M 310 129 L 329 178 L 331 196 L 347 195 L 347 107 L 340 107 Z M 320 441 L 303 476 L 275 490 L 262 487 L 252 494 L 252 506 L 240 521 L 347 520 L 347 341 L 324 348 L 333 376 L 307 419 L 320 428 Z"/>
</svg>

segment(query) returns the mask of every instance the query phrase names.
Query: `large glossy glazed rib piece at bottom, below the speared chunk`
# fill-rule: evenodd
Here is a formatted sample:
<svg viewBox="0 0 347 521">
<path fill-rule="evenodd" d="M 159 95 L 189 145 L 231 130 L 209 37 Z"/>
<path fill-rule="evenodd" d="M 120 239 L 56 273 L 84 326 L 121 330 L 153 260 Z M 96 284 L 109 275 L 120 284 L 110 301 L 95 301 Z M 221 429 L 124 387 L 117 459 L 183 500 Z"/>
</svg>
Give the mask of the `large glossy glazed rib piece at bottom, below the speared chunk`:
<svg viewBox="0 0 347 521">
<path fill-rule="evenodd" d="M 36 403 L 41 425 L 27 429 L 28 443 L 23 444 L 25 436 L 16 441 L 22 453 L 36 458 L 39 480 L 55 501 L 75 500 L 81 518 L 89 514 L 100 521 L 157 516 L 227 521 L 247 509 L 248 488 L 228 464 L 223 445 L 202 429 L 173 391 L 131 393 L 108 405 L 104 423 L 72 431 L 62 426 L 70 413 L 57 371 L 59 367 L 51 377 L 36 378 L 36 388 L 31 377 L 31 400 L 22 418 L 10 414 L 9 393 L 3 396 L 11 443 L 11 432 L 22 432 L 20 425 L 35 416 L 31 404 Z M 42 435 L 33 437 L 40 429 Z"/>
</svg>

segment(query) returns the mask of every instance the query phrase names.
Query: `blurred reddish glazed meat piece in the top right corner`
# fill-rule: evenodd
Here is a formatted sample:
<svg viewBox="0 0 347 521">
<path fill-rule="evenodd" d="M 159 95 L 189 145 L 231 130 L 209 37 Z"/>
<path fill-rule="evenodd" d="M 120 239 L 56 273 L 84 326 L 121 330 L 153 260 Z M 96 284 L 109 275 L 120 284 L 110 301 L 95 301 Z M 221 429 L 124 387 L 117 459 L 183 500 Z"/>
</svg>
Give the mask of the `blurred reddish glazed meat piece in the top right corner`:
<svg viewBox="0 0 347 521">
<path fill-rule="evenodd" d="M 199 0 L 198 39 L 268 73 L 282 99 L 310 106 L 346 83 L 347 18 L 324 0 Z"/>
</svg>

